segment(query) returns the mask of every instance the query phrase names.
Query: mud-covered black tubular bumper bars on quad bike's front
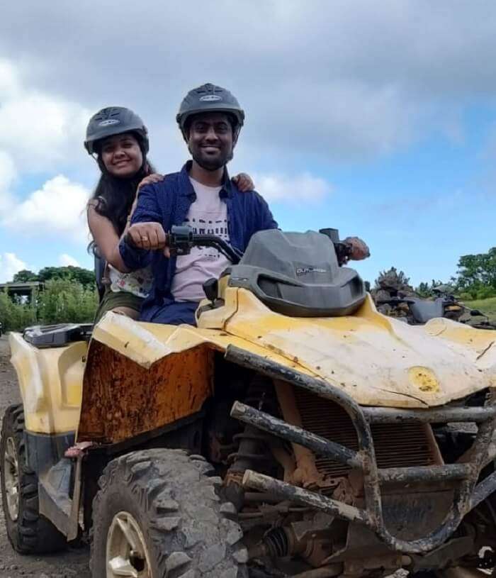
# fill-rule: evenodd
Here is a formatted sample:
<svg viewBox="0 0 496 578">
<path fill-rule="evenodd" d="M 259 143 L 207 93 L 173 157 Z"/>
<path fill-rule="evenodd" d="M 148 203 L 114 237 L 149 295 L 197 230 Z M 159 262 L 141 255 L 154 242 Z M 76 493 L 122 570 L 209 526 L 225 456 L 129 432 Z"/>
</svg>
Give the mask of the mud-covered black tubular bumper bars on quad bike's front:
<svg viewBox="0 0 496 578">
<path fill-rule="evenodd" d="M 322 438 L 319 435 L 293 426 L 257 409 L 235 402 L 231 415 L 239 421 L 249 423 L 278 438 L 302 445 L 317 455 L 360 469 L 363 474 L 365 507 L 357 508 L 342 501 L 328 498 L 314 491 L 282 482 L 248 469 L 242 485 L 259 491 L 268 491 L 282 499 L 317 508 L 332 516 L 350 522 L 361 523 L 371 528 L 393 550 L 405 553 L 428 552 L 444 543 L 458 528 L 466 513 L 475 508 L 496 490 L 496 472 L 478 483 L 480 471 L 495 458 L 495 448 L 490 448 L 496 426 L 496 399 L 494 389 L 490 390 L 490 400 L 480 407 L 446 407 L 445 409 L 390 409 L 365 407 L 351 399 L 341 389 L 310 377 L 271 360 L 254 355 L 230 345 L 225 353 L 226 360 L 237 365 L 254 369 L 272 379 L 280 379 L 310 391 L 312 394 L 329 399 L 348 413 L 356 430 L 359 450 L 354 451 L 343 445 Z M 467 455 L 460 462 L 436 466 L 379 468 L 376 461 L 371 423 L 401 423 L 420 421 L 423 423 L 475 422 L 478 433 Z M 495 455 L 492 455 L 495 454 Z M 446 482 L 454 481 L 453 503 L 438 528 L 425 538 L 402 540 L 392 535 L 385 527 L 383 516 L 381 484 L 385 482 Z"/>
</svg>

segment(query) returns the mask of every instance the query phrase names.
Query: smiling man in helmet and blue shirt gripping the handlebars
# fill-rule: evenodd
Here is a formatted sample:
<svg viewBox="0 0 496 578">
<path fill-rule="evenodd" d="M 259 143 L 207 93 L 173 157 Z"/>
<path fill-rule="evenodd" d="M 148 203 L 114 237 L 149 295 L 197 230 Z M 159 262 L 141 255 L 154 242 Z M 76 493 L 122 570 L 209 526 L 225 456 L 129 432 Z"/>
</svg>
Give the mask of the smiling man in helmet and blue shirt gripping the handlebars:
<svg viewBox="0 0 496 578">
<path fill-rule="evenodd" d="M 244 111 L 230 91 L 213 84 L 188 92 L 176 116 L 192 160 L 181 172 L 140 189 L 137 208 L 119 252 L 129 270 L 152 263 L 154 283 L 142 306 L 141 321 L 195 323 L 204 298 L 203 282 L 220 277 L 230 265 L 213 248 L 193 248 L 171 257 L 166 233 L 188 225 L 195 233 L 213 233 L 244 251 L 259 230 L 277 228 L 269 206 L 255 191 L 240 193 L 227 174 Z M 366 245 L 349 239 L 354 259 L 368 256 Z"/>
</svg>

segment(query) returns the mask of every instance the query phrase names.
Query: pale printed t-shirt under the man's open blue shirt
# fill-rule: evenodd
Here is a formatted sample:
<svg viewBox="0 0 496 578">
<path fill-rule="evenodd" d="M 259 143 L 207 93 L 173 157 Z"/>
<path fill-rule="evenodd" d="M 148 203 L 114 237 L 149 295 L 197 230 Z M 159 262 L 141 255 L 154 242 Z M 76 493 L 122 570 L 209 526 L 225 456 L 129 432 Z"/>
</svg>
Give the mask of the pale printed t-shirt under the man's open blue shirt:
<svg viewBox="0 0 496 578">
<path fill-rule="evenodd" d="M 227 230 L 227 205 L 220 199 L 222 187 L 205 187 L 191 179 L 196 193 L 196 201 L 191 204 L 186 221 L 196 234 L 218 235 L 229 241 Z M 172 280 L 172 295 L 175 301 L 201 301 L 205 299 L 203 283 L 215 277 L 218 279 L 230 260 L 211 247 L 193 247 L 189 255 L 177 257 L 176 274 Z"/>
</svg>

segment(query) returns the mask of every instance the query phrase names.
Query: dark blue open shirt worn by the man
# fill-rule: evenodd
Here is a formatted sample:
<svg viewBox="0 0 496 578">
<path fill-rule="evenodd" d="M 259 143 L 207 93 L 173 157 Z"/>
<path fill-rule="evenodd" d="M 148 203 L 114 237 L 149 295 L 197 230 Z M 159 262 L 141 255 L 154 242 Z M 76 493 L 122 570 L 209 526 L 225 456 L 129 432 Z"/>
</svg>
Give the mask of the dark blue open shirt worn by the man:
<svg viewBox="0 0 496 578">
<path fill-rule="evenodd" d="M 161 223 L 164 231 L 173 225 L 182 225 L 189 207 L 196 201 L 193 185 L 189 180 L 191 161 L 181 172 L 168 174 L 163 181 L 147 184 L 140 189 L 137 207 L 131 224 Z M 275 229 L 277 223 L 266 201 L 255 191 L 242 193 L 225 171 L 220 199 L 227 204 L 227 230 L 230 243 L 244 251 L 254 233 Z M 120 256 L 131 271 L 152 265 L 153 285 L 150 295 L 142 306 L 142 321 L 152 321 L 155 313 L 173 300 L 171 284 L 176 272 L 176 257 L 168 259 L 162 251 L 149 251 L 131 247 L 124 240 L 119 245 Z"/>
</svg>

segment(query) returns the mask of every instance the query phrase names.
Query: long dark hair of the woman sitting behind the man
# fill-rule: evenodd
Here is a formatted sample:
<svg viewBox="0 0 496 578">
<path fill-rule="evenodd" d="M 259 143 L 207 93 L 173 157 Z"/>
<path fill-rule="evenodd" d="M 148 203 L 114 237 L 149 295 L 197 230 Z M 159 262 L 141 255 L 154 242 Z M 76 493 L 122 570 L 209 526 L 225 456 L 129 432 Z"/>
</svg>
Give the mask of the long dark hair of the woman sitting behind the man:
<svg viewBox="0 0 496 578">
<path fill-rule="evenodd" d="M 143 163 L 140 170 L 131 177 L 130 179 L 119 179 L 118 177 L 113 177 L 112 174 L 108 172 L 103 161 L 101 160 L 101 154 L 98 151 L 98 167 L 101 170 L 101 177 L 98 180 L 98 184 L 91 196 L 91 201 L 96 201 L 94 205 L 95 211 L 108 218 L 113 224 L 115 232 L 120 236 L 122 235 L 126 221 L 128 220 L 128 215 L 130 213 L 131 207 L 133 206 L 133 201 L 135 200 L 137 186 L 140 181 L 147 177 L 149 174 L 155 172 L 154 167 L 147 160 L 145 155 L 145 150 L 142 145 L 142 140 L 138 135 L 134 135 L 137 138 L 137 142 L 140 145 L 140 149 L 143 155 Z M 92 247 L 94 243 L 91 243 Z"/>
</svg>

